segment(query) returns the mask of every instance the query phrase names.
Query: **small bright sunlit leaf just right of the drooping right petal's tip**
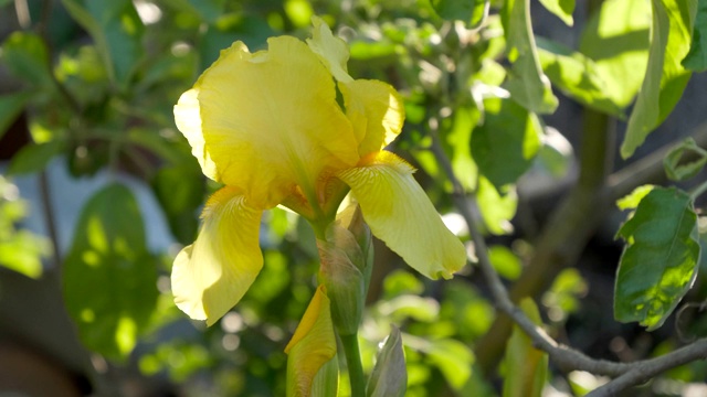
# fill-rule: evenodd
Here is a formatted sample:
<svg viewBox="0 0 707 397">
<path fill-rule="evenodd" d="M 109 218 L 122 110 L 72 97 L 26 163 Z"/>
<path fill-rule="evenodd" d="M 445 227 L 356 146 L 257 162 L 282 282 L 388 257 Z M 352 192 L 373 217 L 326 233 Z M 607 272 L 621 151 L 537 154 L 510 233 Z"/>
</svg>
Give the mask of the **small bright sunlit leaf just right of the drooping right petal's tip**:
<svg viewBox="0 0 707 397">
<path fill-rule="evenodd" d="M 503 193 L 499 193 L 499 190 Z M 518 195 L 514 185 L 495 187 L 486 178 L 481 176 L 476 200 L 484 226 L 489 233 L 495 235 L 513 233 L 510 219 L 516 215 L 518 208 Z"/>
</svg>

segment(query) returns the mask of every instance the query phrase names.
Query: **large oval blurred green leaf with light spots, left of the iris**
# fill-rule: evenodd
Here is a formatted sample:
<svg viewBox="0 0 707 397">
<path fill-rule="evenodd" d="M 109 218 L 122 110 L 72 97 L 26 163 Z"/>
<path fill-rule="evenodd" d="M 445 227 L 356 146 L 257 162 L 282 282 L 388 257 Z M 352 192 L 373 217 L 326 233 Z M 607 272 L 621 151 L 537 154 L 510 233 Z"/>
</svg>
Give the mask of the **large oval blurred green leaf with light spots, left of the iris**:
<svg viewBox="0 0 707 397">
<path fill-rule="evenodd" d="M 85 204 L 64 261 L 63 283 L 83 343 L 109 358 L 125 358 L 159 293 L 143 217 L 124 185 L 108 185 Z"/>
</svg>

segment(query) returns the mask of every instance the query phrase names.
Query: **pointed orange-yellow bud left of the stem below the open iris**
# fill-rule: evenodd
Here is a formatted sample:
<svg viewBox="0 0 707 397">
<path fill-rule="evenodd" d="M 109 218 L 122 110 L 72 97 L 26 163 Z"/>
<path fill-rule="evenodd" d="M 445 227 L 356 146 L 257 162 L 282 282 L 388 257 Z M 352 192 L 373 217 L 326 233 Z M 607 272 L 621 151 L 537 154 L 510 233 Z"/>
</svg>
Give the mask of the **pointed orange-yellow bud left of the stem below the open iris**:
<svg viewBox="0 0 707 397">
<path fill-rule="evenodd" d="M 285 347 L 287 396 L 308 397 L 319 369 L 336 355 L 329 298 L 319 286 Z"/>
</svg>

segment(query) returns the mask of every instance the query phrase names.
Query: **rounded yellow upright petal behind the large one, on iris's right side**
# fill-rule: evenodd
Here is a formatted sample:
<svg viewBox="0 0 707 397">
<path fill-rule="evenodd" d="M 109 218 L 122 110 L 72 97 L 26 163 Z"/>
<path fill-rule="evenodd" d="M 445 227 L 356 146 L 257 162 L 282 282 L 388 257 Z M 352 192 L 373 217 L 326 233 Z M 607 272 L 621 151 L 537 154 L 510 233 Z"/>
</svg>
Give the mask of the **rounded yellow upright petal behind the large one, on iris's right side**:
<svg viewBox="0 0 707 397">
<path fill-rule="evenodd" d="M 339 83 L 339 89 L 359 141 L 359 155 L 379 151 L 398 137 L 405 111 L 395 88 L 379 81 L 357 79 Z"/>
</svg>

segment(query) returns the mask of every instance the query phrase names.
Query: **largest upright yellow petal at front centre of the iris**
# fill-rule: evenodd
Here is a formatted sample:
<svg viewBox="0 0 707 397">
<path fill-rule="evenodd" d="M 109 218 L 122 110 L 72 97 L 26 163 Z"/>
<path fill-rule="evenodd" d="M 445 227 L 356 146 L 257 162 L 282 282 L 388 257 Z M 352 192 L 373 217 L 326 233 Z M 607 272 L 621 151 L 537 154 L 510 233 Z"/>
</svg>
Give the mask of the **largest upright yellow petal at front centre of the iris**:
<svg viewBox="0 0 707 397">
<path fill-rule="evenodd" d="M 359 159 L 329 71 L 295 37 L 267 43 L 254 54 L 234 43 L 194 86 L 219 176 L 262 208 L 275 206 L 295 184 L 314 196 L 324 170 Z"/>
</svg>

